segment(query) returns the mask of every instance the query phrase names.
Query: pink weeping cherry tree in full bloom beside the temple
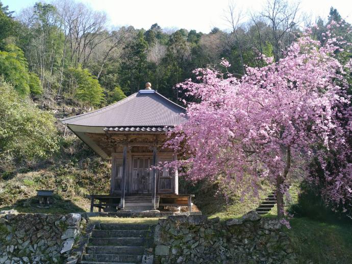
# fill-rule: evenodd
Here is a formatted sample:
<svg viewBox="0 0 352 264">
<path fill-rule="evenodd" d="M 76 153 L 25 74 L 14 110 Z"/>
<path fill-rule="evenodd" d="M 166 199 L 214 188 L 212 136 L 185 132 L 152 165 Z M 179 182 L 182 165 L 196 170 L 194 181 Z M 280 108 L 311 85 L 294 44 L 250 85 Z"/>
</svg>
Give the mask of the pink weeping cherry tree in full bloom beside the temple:
<svg viewBox="0 0 352 264">
<path fill-rule="evenodd" d="M 229 187 L 244 192 L 268 179 L 276 187 L 282 218 L 284 184 L 293 165 L 303 166 L 312 179 L 309 165 L 317 159 L 328 202 L 350 206 L 352 111 L 344 76 L 352 63 L 336 58 L 349 43 L 328 36 L 322 44 L 303 34 L 283 59 L 265 58 L 267 66 L 247 67 L 240 80 L 229 72 L 196 69 L 197 82 L 179 85 L 193 102 L 187 103 L 187 121 L 166 142 L 183 157 L 169 166 L 186 168 L 187 178 L 195 181 L 221 175 Z"/>
</svg>

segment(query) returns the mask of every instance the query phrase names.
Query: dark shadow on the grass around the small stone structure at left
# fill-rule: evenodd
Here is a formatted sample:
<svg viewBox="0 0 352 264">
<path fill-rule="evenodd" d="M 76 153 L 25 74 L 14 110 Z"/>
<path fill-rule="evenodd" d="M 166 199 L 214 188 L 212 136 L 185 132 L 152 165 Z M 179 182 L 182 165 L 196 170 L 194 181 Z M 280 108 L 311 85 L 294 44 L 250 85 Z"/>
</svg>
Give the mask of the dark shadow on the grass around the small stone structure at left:
<svg viewBox="0 0 352 264">
<path fill-rule="evenodd" d="M 44 214 L 69 214 L 85 212 L 85 210 L 71 200 L 65 200 L 60 195 L 54 194 L 51 204 L 39 204 L 36 196 L 18 200 L 12 206 L 0 207 L 0 210 L 15 209 L 19 213 L 44 213 Z"/>
</svg>

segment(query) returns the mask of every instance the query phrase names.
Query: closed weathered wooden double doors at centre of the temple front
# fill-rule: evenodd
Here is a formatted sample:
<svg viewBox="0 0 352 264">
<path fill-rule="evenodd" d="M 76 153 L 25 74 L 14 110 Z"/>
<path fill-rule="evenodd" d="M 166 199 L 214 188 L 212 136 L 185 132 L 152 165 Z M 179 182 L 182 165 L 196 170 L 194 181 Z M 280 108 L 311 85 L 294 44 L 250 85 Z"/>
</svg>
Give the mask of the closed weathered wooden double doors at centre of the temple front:
<svg viewBox="0 0 352 264">
<path fill-rule="evenodd" d="M 152 179 L 150 167 L 153 164 L 152 156 L 132 157 L 132 193 L 151 193 Z"/>
</svg>

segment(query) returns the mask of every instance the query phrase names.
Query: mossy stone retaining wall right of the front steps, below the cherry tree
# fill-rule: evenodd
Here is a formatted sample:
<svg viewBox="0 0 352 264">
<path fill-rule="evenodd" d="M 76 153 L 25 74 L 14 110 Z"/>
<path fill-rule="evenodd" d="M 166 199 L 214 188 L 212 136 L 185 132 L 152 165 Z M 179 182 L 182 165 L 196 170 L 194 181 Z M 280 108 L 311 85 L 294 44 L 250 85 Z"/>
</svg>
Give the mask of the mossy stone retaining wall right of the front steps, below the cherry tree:
<svg viewBox="0 0 352 264">
<path fill-rule="evenodd" d="M 226 222 L 205 216 L 160 219 L 155 263 L 296 263 L 283 228 L 254 211 Z"/>
</svg>

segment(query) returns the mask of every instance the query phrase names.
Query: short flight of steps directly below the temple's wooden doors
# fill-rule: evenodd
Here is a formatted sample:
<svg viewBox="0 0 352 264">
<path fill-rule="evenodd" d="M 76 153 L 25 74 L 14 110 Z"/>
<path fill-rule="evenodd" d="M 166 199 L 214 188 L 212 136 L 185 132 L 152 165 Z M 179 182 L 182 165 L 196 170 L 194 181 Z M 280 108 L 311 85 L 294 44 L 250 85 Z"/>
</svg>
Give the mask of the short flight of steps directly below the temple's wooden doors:
<svg viewBox="0 0 352 264">
<path fill-rule="evenodd" d="M 155 198 L 155 207 L 159 207 L 159 196 Z M 144 212 L 152 210 L 152 195 L 150 194 L 136 194 L 126 196 L 124 198 L 124 210 L 134 212 Z"/>
</svg>

